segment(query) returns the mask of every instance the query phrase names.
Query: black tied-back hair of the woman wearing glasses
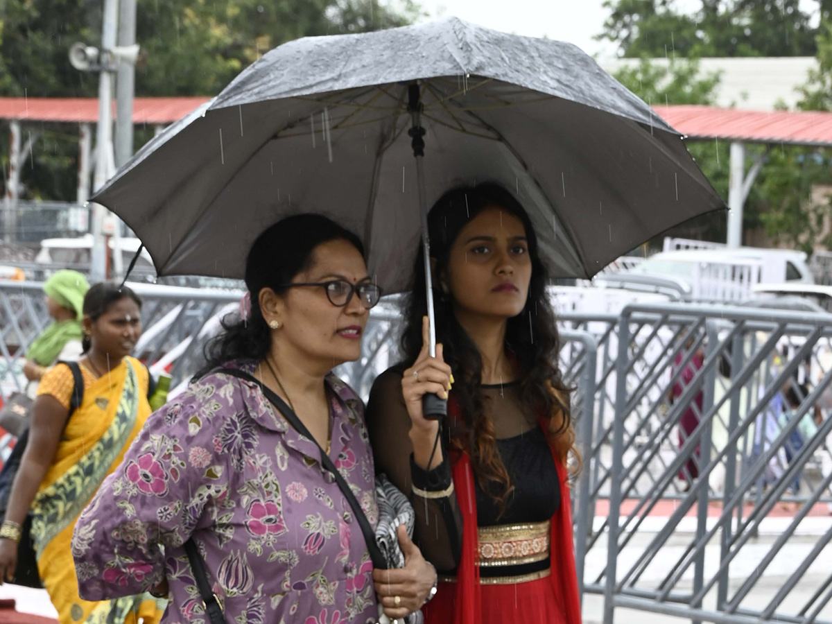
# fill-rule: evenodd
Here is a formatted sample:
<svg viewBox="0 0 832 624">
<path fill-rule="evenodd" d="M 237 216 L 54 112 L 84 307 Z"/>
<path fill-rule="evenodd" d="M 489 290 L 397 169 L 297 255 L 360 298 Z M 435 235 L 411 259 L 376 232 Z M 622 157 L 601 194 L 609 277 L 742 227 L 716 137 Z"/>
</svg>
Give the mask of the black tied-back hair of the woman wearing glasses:
<svg viewBox="0 0 832 624">
<path fill-rule="evenodd" d="M 310 268 L 315 248 L 330 240 L 346 240 L 364 256 L 359 237 L 324 215 L 289 216 L 257 237 L 245 260 L 249 318 L 229 314 L 222 319 L 223 330 L 206 344 L 206 365 L 194 379 L 233 359 L 265 358 L 271 348 L 271 332 L 260 310 L 260 290 L 270 288 L 278 295 L 288 290 L 286 285 L 295 275 Z"/>
</svg>

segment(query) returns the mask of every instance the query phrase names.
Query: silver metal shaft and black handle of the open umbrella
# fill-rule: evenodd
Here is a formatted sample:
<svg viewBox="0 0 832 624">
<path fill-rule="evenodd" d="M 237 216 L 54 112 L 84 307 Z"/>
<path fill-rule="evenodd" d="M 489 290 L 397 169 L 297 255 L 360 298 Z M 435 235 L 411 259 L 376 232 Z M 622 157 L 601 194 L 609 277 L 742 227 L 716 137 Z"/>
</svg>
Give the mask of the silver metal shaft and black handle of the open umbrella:
<svg viewBox="0 0 832 624">
<path fill-rule="evenodd" d="M 422 105 L 419 102 L 419 88 L 417 82 L 408 85 L 408 111 L 413 120 L 413 127 L 408 134 L 413 139 L 411 146 L 416 157 L 416 178 L 418 181 L 418 208 L 422 221 L 422 247 L 424 256 L 425 290 L 427 291 L 428 325 L 430 327 L 430 354 L 436 357 L 436 319 L 433 315 L 433 280 L 430 268 L 430 240 L 428 240 L 428 205 L 424 189 L 424 128 L 420 116 Z M 448 415 L 448 400 L 441 399 L 436 394 L 425 394 L 422 397 L 422 414 L 428 420 L 439 420 Z"/>
</svg>

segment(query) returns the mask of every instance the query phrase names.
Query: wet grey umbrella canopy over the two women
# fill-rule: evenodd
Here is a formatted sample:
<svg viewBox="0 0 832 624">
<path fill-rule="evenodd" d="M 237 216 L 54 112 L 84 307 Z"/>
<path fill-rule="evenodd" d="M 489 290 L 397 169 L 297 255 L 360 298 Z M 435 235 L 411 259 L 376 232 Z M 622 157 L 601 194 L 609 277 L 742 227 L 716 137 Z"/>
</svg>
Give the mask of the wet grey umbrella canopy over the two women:
<svg viewBox="0 0 832 624">
<path fill-rule="evenodd" d="M 428 206 L 453 186 L 502 184 L 552 275 L 590 277 L 724 207 L 682 137 L 579 48 L 456 18 L 275 48 L 94 200 L 130 225 L 159 275 L 242 277 L 261 231 L 319 212 L 364 238 L 379 285 L 407 289 L 420 223 L 414 82 Z"/>
</svg>

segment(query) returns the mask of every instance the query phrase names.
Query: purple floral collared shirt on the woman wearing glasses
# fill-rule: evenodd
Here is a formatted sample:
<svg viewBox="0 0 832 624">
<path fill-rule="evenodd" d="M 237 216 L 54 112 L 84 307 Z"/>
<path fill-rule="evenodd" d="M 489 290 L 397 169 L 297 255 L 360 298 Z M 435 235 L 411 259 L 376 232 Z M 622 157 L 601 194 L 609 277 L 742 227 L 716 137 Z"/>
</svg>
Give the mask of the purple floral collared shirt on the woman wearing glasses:
<svg viewBox="0 0 832 624">
<path fill-rule="evenodd" d="M 374 525 L 364 405 L 334 375 L 326 384 L 330 456 Z M 229 624 L 340 624 L 378 615 L 364 537 L 321 468 L 317 445 L 256 384 L 230 375 L 210 374 L 148 418 L 84 510 L 72 539 L 81 596 L 141 593 L 164 570 L 171 604 L 163 622 L 207 624 L 182 547 L 191 536 Z"/>
</svg>

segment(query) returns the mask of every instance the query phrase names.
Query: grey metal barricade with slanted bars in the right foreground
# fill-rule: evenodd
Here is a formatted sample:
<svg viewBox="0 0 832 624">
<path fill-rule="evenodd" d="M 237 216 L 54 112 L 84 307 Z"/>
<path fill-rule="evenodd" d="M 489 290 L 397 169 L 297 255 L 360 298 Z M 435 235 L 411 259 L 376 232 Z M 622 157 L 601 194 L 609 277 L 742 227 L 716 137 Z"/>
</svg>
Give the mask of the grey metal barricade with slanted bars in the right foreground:
<svg viewBox="0 0 832 624">
<path fill-rule="evenodd" d="M 617 338 L 605 624 L 829 622 L 832 315 L 631 306 Z"/>
</svg>

